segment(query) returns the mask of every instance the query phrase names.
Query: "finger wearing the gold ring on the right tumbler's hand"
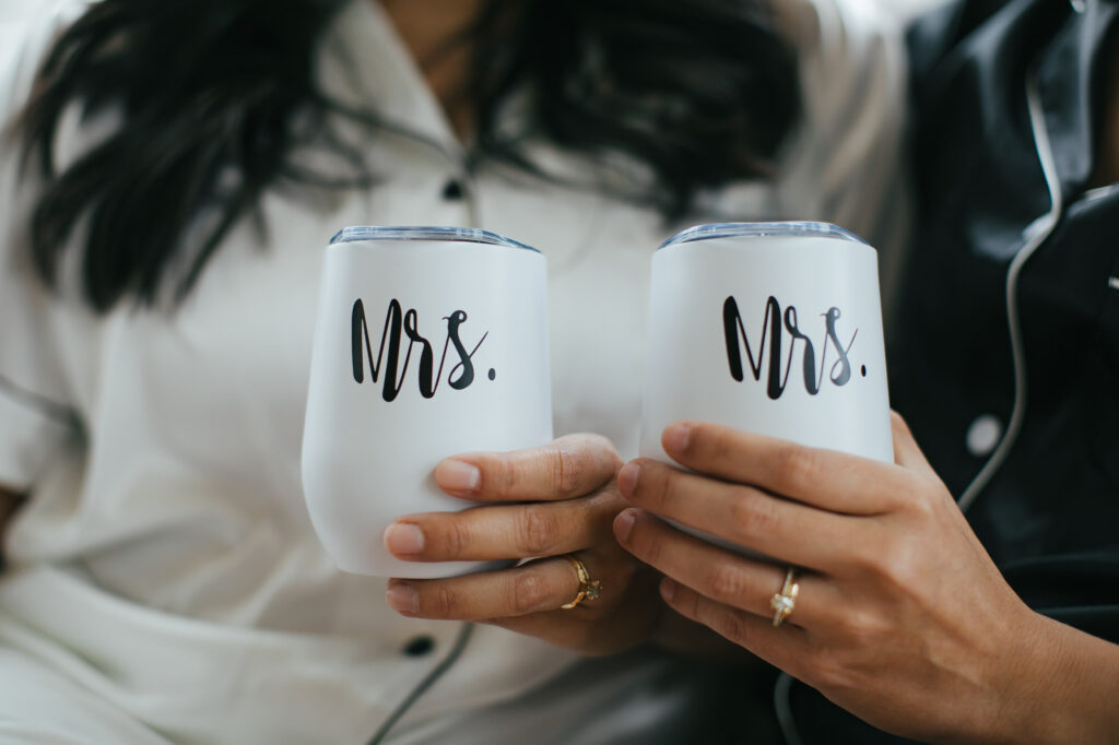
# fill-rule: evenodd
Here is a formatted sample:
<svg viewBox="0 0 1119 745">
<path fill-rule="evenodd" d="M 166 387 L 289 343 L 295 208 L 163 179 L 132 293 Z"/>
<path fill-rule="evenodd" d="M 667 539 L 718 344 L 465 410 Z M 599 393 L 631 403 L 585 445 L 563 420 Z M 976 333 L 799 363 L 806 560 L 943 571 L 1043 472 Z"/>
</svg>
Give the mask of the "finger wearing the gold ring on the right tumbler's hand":
<svg viewBox="0 0 1119 745">
<path fill-rule="evenodd" d="M 788 567 L 736 556 L 641 510 L 619 515 L 614 530 L 622 548 L 677 583 L 724 605 L 772 617 L 770 600 L 784 585 Z M 798 583 L 800 594 L 792 613 L 797 623 L 808 626 L 830 621 L 831 604 L 827 601 L 835 594 L 831 584 L 811 574 L 801 575 Z"/>
</svg>

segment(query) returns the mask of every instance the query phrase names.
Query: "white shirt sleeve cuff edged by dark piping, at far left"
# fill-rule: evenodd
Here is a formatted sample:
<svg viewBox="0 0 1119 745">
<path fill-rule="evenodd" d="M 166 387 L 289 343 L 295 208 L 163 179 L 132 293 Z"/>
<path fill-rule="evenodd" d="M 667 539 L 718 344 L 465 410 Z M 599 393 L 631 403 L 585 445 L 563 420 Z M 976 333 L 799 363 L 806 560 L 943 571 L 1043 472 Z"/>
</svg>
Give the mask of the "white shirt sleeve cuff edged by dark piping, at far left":
<svg viewBox="0 0 1119 745">
<path fill-rule="evenodd" d="M 68 409 L 0 378 L 0 487 L 27 490 L 73 431 Z"/>
</svg>

